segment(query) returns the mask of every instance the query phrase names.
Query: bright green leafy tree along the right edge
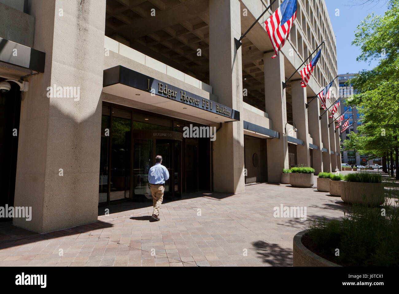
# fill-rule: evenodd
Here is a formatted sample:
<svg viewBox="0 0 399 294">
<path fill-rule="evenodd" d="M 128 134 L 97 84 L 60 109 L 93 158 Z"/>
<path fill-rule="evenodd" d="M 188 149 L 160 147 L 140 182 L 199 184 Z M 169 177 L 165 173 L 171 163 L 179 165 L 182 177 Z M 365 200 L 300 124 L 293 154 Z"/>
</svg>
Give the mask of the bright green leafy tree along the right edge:
<svg viewBox="0 0 399 294">
<path fill-rule="evenodd" d="M 383 16 L 370 14 L 358 26 L 352 45 L 360 46 L 358 61 L 378 60 L 372 70 L 362 70 L 350 83 L 359 90 L 348 104 L 361 108 L 358 127 L 364 153 L 383 156 L 399 146 L 399 0 L 390 0 Z M 351 144 L 347 142 L 347 144 Z M 396 160 L 395 165 L 399 166 Z M 396 175 L 399 179 L 399 174 Z"/>
</svg>

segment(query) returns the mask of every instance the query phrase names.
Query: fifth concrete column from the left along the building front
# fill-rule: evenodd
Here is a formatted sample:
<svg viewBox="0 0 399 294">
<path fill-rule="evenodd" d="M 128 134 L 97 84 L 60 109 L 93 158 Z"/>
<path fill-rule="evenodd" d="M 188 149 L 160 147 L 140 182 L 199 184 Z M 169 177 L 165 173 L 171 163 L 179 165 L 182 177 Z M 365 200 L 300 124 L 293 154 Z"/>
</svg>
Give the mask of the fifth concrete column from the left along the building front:
<svg viewBox="0 0 399 294">
<path fill-rule="evenodd" d="M 312 99 L 308 99 L 308 102 Z M 313 144 L 318 146 L 318 150 L 313 149 L 313 168 L 316 170 L 316 174 L 323 171 L 323 156 L 322 156 L 322 134 L 320 128 L 320 104 L 316 98 L 310 102 L 308 107 L 309 116 L 309 133 L 312 135 Z"/>
</svg>

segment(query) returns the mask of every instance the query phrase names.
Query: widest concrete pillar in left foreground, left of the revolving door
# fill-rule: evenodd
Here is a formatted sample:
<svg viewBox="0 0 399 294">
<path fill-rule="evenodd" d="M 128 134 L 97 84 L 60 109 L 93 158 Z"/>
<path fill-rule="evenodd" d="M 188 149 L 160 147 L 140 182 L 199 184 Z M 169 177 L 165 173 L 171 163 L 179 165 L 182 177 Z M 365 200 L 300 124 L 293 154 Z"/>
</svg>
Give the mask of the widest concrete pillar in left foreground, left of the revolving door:
<svg viewBox="0 0 399 294">
<path fill-rule="evenodd" d="M 32 220 L 16 226 L 45 233 L 97 221 L 105 2 L 32 2 L 46 60 L 21 105 L 14 205 L 32 207 Z M 48 98 L 54 85 L 76 87 L 79 99 Z"/>
</svg>

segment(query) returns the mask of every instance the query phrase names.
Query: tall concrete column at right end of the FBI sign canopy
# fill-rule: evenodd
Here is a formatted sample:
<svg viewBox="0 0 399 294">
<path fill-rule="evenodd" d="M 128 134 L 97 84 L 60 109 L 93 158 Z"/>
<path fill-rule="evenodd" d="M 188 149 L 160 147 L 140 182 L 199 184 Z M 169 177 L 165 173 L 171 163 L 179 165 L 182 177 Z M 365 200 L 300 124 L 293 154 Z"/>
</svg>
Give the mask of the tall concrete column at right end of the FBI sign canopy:
<svg viewBox="0 0 399 294">
<path fill-rule="evenodd" d="M 213 143 L 213 189 L 244 191 L 243 78 L 239 0 L 209 0 L 209 80 L 213 94 L 225 106 L 238 110 L 239 122 L 223 123 Z"/>
</svg>

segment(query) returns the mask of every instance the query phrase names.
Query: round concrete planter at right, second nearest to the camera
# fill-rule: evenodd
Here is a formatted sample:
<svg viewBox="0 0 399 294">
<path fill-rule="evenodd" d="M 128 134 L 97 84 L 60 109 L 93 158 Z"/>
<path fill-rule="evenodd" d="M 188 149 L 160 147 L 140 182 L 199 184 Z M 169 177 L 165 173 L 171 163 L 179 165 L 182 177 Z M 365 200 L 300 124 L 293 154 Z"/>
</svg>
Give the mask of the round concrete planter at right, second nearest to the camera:
<svg viewBox="0 0 399 294">
<path fill-rule="evenodd" d="M 346 203 L 381 205 L 385 201 L 382 183 L 341 182 L 341 199 Z"/>
</svg>

